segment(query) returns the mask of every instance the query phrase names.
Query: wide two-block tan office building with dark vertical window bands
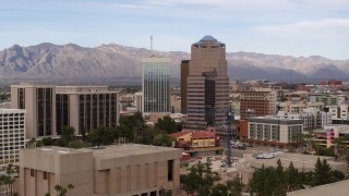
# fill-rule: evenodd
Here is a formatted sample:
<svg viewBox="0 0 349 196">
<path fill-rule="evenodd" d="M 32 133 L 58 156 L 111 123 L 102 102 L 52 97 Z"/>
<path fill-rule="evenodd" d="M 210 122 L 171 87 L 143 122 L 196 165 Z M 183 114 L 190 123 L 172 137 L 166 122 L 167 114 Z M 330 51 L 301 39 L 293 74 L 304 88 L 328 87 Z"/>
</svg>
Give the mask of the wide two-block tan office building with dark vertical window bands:
<svg viewBox="0 0 349 196">
<path fill-rule="evenodd" d="M 63 126 L 75 134 L 119 123 L 119 93 L 107 86 L 11 86 L 11 107 L 26 110 L 26 138 L 60 135 Z"/>
</svg>

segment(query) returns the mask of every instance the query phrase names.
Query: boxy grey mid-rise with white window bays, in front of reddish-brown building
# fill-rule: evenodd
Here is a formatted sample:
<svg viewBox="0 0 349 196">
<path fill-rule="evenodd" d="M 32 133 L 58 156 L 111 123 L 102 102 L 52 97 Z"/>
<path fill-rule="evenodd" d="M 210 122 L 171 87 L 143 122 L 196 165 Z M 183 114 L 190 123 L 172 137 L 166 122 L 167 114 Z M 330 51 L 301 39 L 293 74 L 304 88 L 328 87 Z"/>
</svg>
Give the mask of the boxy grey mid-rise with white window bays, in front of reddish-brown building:
<svg viewBox="0 0 349 196">
<path fill-rule="evenodd" d="M 248 121 L 248 138 L 253 143 L 289 145 L 293 136 L 303 133 L 303 120 L 277 117 L 255 117 Z"/>
</svg>

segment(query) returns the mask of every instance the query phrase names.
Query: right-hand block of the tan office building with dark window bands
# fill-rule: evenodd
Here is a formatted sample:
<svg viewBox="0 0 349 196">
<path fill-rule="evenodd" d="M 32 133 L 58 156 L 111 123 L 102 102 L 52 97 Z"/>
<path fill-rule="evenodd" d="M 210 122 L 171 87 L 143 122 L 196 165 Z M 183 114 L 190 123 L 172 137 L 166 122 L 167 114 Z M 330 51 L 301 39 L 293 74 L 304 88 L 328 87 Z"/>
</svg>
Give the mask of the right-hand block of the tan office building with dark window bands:
<svg viewBox="0 0 349 196">
<path fill-rule="evenodd" d="M 119 93 L 108 86 L 57 86 L 57 132 L 72 126 L 76 134 L 98 126 L 116 127 L 119 123 Z"/>
</svg>

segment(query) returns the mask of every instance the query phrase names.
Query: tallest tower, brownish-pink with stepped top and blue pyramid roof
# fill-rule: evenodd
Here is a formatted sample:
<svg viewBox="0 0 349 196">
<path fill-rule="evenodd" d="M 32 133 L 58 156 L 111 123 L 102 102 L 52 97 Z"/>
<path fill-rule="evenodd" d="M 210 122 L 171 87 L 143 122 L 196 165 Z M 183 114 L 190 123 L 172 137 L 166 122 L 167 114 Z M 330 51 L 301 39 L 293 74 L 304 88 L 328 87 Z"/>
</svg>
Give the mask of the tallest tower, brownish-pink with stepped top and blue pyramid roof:
<svg viewBox="0 0 349 196">
<path fill-rule="evenodd" d="M 229 109 L 226 45 L 212 36 L 193 44 L 186 82 L 186 126 L 225 124 Z"/>
</svg>

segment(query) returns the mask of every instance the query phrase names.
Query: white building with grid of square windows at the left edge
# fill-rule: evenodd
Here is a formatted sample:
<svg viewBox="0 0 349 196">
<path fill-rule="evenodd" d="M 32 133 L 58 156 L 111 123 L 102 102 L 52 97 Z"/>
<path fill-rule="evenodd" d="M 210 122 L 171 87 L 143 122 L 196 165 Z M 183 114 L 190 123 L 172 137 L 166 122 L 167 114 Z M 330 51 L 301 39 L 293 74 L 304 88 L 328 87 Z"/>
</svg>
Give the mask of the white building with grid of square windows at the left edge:
<svg viewBox="0 0 349 196">
<path fill-rule="evenodd" d="M 20 161 L 25 147 L 25 110 L 0 109 L 0 167 Z"/>
</svg>

